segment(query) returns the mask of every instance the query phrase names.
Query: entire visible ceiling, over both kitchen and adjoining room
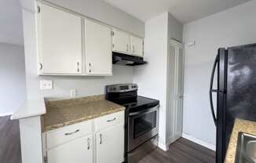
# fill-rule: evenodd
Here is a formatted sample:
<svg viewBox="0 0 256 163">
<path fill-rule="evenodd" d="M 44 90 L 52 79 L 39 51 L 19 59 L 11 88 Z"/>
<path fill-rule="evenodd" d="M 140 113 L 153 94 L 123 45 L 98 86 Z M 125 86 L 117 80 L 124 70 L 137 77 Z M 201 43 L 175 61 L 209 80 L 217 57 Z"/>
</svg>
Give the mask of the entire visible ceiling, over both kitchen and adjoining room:
<svg viewBox="0 0 256 163">
<path fill-rule="evenodd" d="M 169 11 L 181 23 L 218 13 L 250 0 L 104 0 L 142 21 Z M 20 0 L 0 0 L 0 42 L 23 45 Z"/>
</svg>

